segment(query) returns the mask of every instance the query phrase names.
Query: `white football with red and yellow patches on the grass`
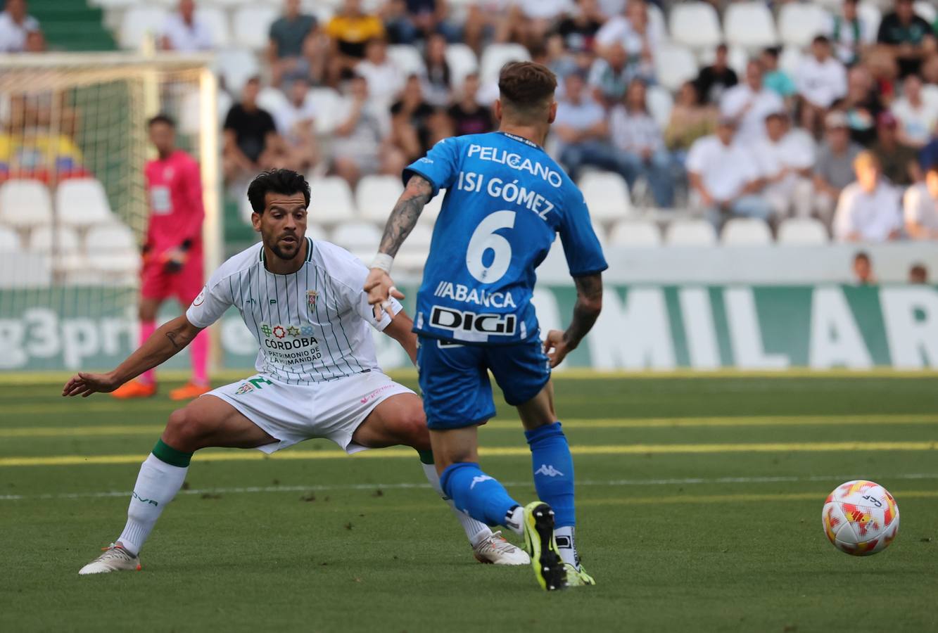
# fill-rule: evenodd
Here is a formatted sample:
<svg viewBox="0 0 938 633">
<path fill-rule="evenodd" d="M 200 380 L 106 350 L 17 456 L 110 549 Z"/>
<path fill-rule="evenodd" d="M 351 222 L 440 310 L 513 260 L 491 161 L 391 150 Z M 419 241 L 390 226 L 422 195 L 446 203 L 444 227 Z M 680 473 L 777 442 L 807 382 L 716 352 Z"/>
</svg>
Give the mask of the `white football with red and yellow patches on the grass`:
<svg viewBox="0 0 938 633">
<path fill-rule="evenodd" d="M 857 479 L 827 495 L 821 522 L 835 548 L 869 556 L 885 550 L 899 534 L 899 505 L 879 484 Z"/>
</svg>

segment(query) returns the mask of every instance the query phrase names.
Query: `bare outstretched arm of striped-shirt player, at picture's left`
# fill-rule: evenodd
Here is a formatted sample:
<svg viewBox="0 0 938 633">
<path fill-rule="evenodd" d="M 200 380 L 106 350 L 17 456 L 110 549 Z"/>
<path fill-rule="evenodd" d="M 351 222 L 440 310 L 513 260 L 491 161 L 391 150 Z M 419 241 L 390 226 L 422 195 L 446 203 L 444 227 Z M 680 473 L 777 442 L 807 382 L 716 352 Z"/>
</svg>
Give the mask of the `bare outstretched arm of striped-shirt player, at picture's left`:
<svg viewBox="0 0 938 633">
<path fill-rule="evenodd" d="M 79 372 L 66 383 L 62 395 L 87 398 L 93 393 L 109 393 L 181 352 L 201 331 L 201 327 L 189 323 L 186 315 L 176 317 L 173 321 L 160 325 L 136 352 L 117 366 L 117 369 L 107 373 Z"/>
</svg>

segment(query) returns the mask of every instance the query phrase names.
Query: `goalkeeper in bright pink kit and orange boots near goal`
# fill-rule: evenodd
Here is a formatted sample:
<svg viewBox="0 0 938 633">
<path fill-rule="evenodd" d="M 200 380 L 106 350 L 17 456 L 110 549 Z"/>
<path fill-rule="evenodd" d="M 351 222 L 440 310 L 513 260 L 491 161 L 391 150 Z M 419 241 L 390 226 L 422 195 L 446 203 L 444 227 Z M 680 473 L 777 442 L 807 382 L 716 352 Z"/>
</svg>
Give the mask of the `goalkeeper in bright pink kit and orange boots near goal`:
<svg viewBox="0 0 938 633">
<path fill-rule="evenodd" d="M 157 310 L 168 298 L 185 309 L 204 286 L 202 269 L 202 179 L 199 163 L 175 146 L 175 124 L 158 115 L 147 124 L 158 158 L 144 167 L 150 208 L 140 285 L 140 340 L 157 328 Z M 208 338 L 201 332 L 189 345 L 192 378 L 170 398 L 197 398 L 210 390 L 206 366 Z M 157 393 L 153 369 L 113 392 L 114 398 L 149 398 Z"/>
</svg>

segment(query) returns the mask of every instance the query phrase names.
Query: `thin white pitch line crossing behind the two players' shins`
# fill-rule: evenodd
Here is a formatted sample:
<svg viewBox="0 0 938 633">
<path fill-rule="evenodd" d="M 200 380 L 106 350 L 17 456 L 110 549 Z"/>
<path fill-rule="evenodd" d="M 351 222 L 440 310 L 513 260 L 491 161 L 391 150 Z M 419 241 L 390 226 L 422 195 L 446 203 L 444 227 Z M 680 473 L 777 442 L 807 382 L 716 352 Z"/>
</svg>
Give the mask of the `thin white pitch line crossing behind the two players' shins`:
<svg viewBox="0 0 938 633">
<path fill-rule="evenodd" d="M 576 482 L 577 486 L 691 486 L 698 484 L 776 484 L 812 481 L 849 481 L 855 475 L 809 475 L 775 477 L 688 477 L 685 479 L 611 479 L 607 481 L 585 480 Z M 889 475 L 888 479 L 938 479 L 938 473 L 910 473 Z M 507 481 L 505 486 L 530 486 L 530 481 Z M 201 488 L 179 490 L 179 494 L 245 494 L 251 492 L 328 492 L 332 490 L 409 490 L 429 489 L 430 484 L 342 484 L 310 486 L 252 486 L 247 488 Z M 126 497 L 127 490 L 107 490 L 104 492 L 64 492 L 58 494 L 5 494 L 0 501 L 41 501 L 52 499 L 100 499 L 107 497 Z"/>
</svg>

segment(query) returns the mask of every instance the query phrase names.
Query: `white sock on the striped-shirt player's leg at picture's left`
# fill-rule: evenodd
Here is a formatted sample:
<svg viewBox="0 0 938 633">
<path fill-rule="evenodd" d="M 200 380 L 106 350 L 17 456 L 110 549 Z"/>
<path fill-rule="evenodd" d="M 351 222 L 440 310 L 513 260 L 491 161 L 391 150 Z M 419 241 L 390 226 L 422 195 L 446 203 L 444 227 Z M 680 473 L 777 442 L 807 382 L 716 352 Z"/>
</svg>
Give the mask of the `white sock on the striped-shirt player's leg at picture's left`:
<svg viewBox="0 0 938 633">
<path fill-rule="evenodd" d="M 140 475 L 137 475 L 137 483 L 130 495 L 127 525 L 116 542 L 131 554 L 137 555 L 157 524 L 163 508 L 173 501 L 175 493 L 182 488 L 188 471 L 189 468 L 172 466 L 150 453 L 140 467 Z"/>
</svg>

